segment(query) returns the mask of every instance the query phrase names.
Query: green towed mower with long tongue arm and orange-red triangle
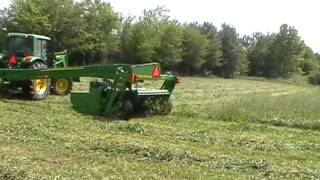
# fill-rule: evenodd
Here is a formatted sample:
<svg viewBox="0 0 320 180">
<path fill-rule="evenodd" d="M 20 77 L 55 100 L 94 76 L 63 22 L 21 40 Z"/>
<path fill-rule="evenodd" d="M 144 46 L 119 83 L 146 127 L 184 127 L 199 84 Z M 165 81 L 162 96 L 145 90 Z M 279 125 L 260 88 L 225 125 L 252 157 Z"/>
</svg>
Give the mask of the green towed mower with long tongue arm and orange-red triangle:
<svg viewBox="0 0 320 180">
<path fill-rule="evenodd" d="M 158 63 L 141 65 L 109 64 L 99 66 L 55 68 L 45 70 L 0 69 L 0 78 L 6 81 L 41 78 L 97 77 L 91 81 L 89 92 L 72 92 L 73 107 L 83 113 L 120 116 L 127 119 L 135 114 L 168 114 L 170 96 L 178 78 L 161 74 Z M 164 80 L 158 90 L 138 88 L 144 80 Z"/>
</svg>

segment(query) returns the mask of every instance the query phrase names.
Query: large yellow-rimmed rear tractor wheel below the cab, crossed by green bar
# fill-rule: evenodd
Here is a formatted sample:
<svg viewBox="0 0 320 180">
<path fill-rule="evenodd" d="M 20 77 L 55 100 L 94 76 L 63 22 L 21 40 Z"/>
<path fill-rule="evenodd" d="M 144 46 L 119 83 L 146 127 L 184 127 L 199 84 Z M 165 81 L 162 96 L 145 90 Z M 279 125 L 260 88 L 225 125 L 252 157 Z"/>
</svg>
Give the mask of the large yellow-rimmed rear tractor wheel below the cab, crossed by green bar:
<svg viewBox="0 0 320 180">
<path fill-rule="evenodd" d="M 47 69 L 43 62 L 34 62 L 29 69 Z M 46 99 L 50 91 L 50 79 L 33 79 L 23 83 L 22 90 L 32 100 Z"/>
</svg>

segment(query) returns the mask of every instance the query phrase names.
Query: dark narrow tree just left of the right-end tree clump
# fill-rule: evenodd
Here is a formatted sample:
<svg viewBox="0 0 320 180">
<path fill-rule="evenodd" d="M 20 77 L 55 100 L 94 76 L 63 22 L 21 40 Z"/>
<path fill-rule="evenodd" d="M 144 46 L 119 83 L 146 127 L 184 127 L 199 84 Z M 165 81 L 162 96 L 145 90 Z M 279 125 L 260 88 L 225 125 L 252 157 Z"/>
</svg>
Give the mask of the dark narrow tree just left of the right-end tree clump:
<svg viewBox="0 0 320 180">
<path fill-rule="evenodd" d="M 247 71 L 248 62 L 245 51 L 240 46 L 236 29 L 223 24 L 219 32 L 222 41 L 222 66 L 220 74 L 225 78 L 233 78 Z"/>
</svg>

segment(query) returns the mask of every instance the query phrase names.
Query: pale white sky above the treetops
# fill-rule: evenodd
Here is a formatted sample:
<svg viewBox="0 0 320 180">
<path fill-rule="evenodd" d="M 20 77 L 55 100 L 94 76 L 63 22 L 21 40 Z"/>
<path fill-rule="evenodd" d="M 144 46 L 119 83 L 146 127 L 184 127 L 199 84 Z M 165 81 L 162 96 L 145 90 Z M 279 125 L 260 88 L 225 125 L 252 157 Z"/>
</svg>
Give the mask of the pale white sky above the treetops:
<svg viewBox="0 0 320 180">
<path fill-rule="evenodd" d="M 139 16 L 144 9 L 164 6 L 180 22 L 233 25 L 240 35 L 278 32 L 282 24 L 294 26 L 305 43 L 320 53 L 319 0 L 104 0 L 124 16 Z M 11 0 L 0 0 L 0 8 Z"/>
</svg>

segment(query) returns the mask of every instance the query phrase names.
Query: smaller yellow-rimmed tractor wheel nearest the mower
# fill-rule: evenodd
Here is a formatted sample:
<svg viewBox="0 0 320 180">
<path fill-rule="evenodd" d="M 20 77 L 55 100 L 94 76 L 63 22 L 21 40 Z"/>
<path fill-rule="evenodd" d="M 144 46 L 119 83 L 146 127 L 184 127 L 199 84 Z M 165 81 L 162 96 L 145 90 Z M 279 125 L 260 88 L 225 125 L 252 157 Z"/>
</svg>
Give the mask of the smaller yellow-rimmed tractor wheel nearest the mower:
<svg viewBox="0 0 320 180">
<path fill-rule="evenodd" d="M 51 80 L 51 91 L 55 95 L 65 96 L 72 90 L 71 78 L 60 78 Z"/>
</svg>

